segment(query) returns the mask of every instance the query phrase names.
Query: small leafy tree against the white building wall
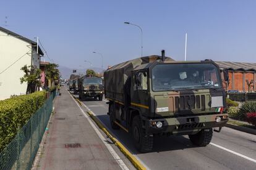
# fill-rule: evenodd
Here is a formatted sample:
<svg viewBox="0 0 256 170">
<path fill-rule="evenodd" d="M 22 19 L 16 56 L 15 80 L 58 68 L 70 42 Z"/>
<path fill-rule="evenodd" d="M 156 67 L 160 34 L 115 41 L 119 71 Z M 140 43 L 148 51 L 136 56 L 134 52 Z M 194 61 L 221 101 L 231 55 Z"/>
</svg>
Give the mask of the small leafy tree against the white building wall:
<svg viewBox="0 0 256 170">
<path fill-rule="evenodd" d="M 36 91 L 36 88 L 41 86 L 41 70 L 35 66 L 24 65 L 20 70 L 24 71 L 25 75 L 20 78 L 20 83 L 27 82 L 27 91 L 26 94 L 30 94 Z"/>
</svg>

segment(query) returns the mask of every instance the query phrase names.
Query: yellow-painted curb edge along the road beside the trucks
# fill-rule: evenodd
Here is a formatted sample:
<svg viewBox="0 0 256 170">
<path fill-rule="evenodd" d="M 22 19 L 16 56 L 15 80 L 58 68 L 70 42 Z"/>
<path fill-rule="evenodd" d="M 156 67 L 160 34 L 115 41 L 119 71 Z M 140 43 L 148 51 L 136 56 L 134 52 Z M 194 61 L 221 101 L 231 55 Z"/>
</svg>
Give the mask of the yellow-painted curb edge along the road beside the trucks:
<svg viewBox="0 0 256 170">
<path fill-rule="evenodd" d="M 74 95 L 72 95 L 74 97 Z M 80 102 L 80 100 L 76 99 L 74 97 L 75 100 L 77 100 L 77 102 L 79 103 L 79 105 L 82 106 L 82 103 Z M 105 126 L 99 121 L 98 118 L 96 118 L 92 113 L 90 113 L 90 111 L 87 111 L 87 114 L 90 116 L 90 118 L 93 119 L 93 121 L 97 124 L 98 127 L 100 127 L 100 129 L 105 132 L 106 136 L 108 136 L 109 139 L 112 140 L 112 142 L 114 143 L 114 145 L 116 145 L 119 150 L 126 156 L 126 158 L 128 158 L 128 160 L 134 165 L 134 167 L 136 169 L 140 169 L 140 170 L 144 170 L 146 169 L 142 163 L 140 163 L 139 160 L 137 160 L 137 158 L 135 158 L 134 155 L 132 155 L 132 153 L 129 152 L 129 150 L 127 150 L 126 147 L 124 147 L 124 145 L 121 144 L 121 142 L 119 142 L 119 140 L 117 140 L 115 137 L 113 137 L 113 135 L 108 132 L 108 130 L 105 128 Z"/>
</svg>

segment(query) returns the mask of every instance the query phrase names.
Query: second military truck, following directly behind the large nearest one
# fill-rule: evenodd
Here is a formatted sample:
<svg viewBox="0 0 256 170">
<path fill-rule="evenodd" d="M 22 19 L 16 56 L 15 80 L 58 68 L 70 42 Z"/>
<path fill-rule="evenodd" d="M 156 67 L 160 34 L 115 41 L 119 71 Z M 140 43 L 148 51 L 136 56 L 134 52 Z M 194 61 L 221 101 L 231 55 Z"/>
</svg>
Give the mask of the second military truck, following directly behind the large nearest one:
<svg viewBox="0 0 256 170">
<path fill-rule="evenodd" d="M 93 97 L 95 100 L 103 99 L 102 79 L 98 77 L 83 76 L 79 78 L 79 99 L 84 100 L 87 97 Z"/>
</svg>

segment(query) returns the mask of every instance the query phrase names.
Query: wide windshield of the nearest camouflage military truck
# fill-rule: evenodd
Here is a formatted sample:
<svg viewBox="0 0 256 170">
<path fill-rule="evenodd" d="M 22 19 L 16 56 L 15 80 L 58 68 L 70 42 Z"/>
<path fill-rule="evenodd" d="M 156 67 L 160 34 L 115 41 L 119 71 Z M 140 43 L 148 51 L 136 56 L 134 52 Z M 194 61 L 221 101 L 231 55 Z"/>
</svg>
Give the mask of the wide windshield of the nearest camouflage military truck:
<svg viewBox="0 0 256 170">
<path fill-rule="evenodd" d="M 152 69 L 153 91 L 220 88 L 218 68 L 212 63 L 159 64 Z"/>
</svg>

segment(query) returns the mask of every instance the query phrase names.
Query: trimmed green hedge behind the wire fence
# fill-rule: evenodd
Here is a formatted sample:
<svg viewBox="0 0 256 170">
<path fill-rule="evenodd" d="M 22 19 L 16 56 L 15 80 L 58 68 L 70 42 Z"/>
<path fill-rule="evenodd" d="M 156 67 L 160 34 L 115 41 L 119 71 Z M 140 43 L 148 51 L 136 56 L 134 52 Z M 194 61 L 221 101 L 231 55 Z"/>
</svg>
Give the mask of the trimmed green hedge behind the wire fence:
<svg viewBox="0 0 256 170">
<path fill-rule="evenodd" d="M 46 91 L 0 101 L 0 152 L 46 100 Z"/>
</svg>

